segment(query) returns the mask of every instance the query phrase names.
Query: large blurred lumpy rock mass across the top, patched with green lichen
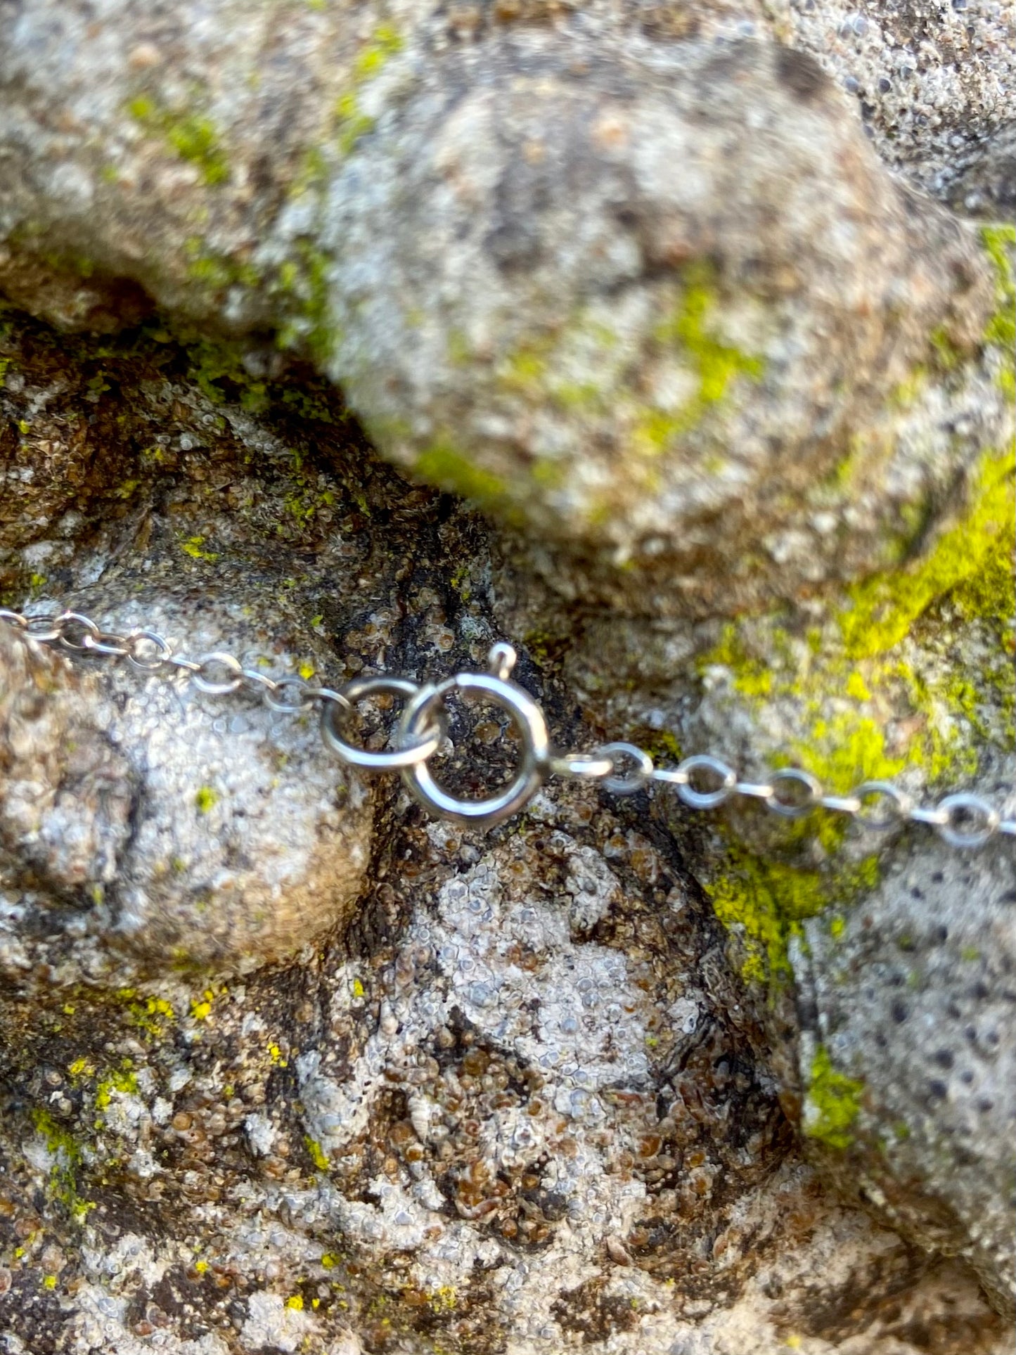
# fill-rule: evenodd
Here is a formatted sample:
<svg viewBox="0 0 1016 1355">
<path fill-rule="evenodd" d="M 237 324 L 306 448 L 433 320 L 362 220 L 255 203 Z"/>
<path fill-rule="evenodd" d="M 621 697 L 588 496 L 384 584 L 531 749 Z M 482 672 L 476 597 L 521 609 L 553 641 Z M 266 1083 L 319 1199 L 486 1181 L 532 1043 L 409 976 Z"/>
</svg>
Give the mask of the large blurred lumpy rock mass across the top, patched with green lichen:
<svg viewBox="0 0 1016 1355">
<path fill-rule="evenodd" d="M 20 298 L 39 260 L 84 274 L 37 286 L 58 318 L 129 279 L 299 341 L 385 455 L 546 538 L 568 596 L 717 614 L 856 577 L 997 439 L 990 263 L 749 7 L 666 14 L 37 3 L 0 65 L 7 270 Z M 943 348 L 959 440 L 897 409 Z"/>
</svg>

